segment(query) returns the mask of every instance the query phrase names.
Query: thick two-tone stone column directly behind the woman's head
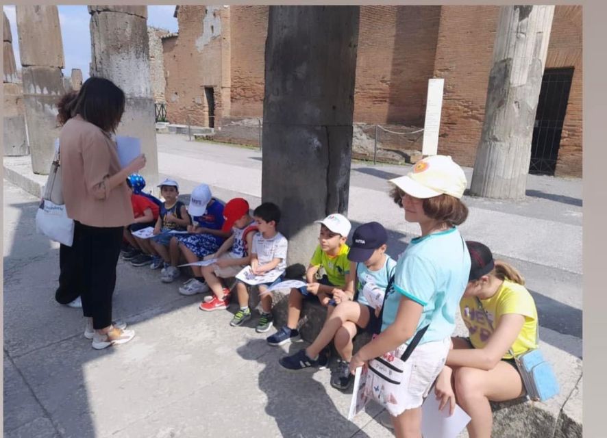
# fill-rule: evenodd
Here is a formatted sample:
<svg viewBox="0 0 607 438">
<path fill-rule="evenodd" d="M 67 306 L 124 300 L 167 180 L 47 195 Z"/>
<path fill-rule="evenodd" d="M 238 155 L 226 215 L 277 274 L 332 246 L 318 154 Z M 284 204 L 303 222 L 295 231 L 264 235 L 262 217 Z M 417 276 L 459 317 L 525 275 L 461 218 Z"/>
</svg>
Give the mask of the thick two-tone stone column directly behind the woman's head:
<svg viewBox="0 0 607 438">
<path fill-rule="evenodd" d="M 126 95 L 120 136 L 137 137 L 147 164 L 141 170 L 147 188 L 156 191 L 158 151 L 156 118 L 149 75 L 147 6 L 88 7 L 90 13 L 90 75 L 110 79 Z"/>
</svg>

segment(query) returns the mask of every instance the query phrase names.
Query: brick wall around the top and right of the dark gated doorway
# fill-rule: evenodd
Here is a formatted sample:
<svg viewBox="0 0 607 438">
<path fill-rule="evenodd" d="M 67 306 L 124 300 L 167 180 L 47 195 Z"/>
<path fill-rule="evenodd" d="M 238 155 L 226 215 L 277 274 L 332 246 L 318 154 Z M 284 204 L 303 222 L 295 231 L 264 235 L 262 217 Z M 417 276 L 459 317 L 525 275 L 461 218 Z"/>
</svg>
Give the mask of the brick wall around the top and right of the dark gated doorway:
<svg viewBox="0 0 607 438">
<path fill-rule="evenodd" d="M 582 6 L 554 8 L 546 68 L 573 67 L 554 175 L 582 177 Z"/>
</svg>

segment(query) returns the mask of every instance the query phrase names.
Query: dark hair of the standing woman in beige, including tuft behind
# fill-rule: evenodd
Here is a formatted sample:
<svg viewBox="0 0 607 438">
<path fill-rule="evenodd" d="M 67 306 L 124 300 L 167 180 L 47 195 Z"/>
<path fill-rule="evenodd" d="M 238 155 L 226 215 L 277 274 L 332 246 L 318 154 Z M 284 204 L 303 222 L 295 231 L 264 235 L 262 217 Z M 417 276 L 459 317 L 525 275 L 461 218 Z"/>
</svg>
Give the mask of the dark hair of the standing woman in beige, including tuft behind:
<svg viewBox="0 0 607 438">
<path fill-rule="evenodd" d="M 69 95 L 63 96 L 58 103 L 60 123 L 79 114 L 103 131 L 116 131 L 125 110 L 125 94 L 112 81 L 89 77 L 75 98 L 69 99 Z"/>
</svg>

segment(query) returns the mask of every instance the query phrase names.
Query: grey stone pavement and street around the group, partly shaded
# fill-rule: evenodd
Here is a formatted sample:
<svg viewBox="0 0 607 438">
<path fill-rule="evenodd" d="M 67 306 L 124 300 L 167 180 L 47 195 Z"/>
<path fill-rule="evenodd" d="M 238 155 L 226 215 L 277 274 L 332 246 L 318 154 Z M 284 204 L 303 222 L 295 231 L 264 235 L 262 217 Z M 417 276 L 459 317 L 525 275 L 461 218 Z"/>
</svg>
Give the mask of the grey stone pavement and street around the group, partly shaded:
<svg viewBox="0 0 607 438">
<path fill-rule="evenodd" d="M 158 149 L 160 177 L 175 177 L 184 198 L 206 182 L 224 201 L 260 202 L 260 151 L 169 134 L 158 135 Z M 267 346 L 253 323 L 228 325 L 234 309 L 202 313 L 199 296 L 181 296 L 177 285 L 160 283 L 158 272 L 123 261 L 115 316 L 136 329 L 136 339 L 92 350 L 82 313 L 54 302 L 58 246 L 35 233 L 45 177 L 28 172 L 28 161 L 4 159 L 6 437 L 391 436 L 377 422 L 377 407 L 354 423 L 345 419 L 349 396 L 328 385 L 328 371 L 280 369 L 277 358 L 304 344 Z M 355 226 L 382 222 L 393 255 L 418 232 L 386 196 L 386 179 L 406 170 L 355 163 L 351 172 L 349 218 Z M 523 405 L 516 417 L 520 405 L 501 409 L 496 415 L 508 421 L 500 424 L 512 428 L 496 429 L 496 437 L 576 436 L 580 428 L 581 187 L 580 180 L 530 175 L 520 203 L 465 198 L 470 216 L 462 233 L 521 268 L 540 312 L 542 348 L 562 385 L 558 398 Z M 461 322 L 457 331 L 464 331 Z"/>
</svg>

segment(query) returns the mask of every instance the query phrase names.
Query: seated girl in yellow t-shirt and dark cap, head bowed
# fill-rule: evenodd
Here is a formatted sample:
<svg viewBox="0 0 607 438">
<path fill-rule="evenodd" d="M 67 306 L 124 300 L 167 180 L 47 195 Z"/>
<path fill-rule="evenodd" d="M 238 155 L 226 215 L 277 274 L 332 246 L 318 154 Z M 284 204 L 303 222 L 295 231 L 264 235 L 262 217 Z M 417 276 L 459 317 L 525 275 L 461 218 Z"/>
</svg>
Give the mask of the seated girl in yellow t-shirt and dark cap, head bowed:
<svg viewBox="0 0 607 438">
<path fill-rule="evenodd" d="M 470 337 L 454 337 L 445 368 L 436 379 L 442 407 L 455 401 L 470 415 L 470 438 L 490 438 L 493 415 L 489 401 L 504 402 L 525 394 L 512 355 L 537 347 L 537 310 L 523 286 L 523 276 L 504 261 L 493 260 L 479 242 L 470 252 L 469 283 L 460 311 Z M 488 321 L 487 321 L 488 320 Z"/>
</svg>

